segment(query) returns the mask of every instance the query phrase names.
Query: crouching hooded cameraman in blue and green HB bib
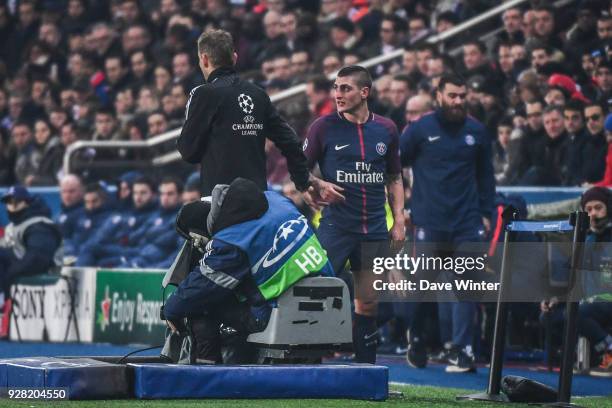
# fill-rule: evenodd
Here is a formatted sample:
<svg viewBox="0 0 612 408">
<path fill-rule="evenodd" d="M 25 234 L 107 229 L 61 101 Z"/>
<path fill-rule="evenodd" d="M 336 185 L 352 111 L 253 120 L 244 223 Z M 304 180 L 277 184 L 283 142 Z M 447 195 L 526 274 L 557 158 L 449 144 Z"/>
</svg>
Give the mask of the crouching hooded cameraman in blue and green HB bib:
<svg viewBox="0 0 612 408">
<path fill-rule="evenodd" d="M 265 329 L 270 302 L 291 285 L 309 275 L 333 276 L 304 216 L 287 198 L 262 192 L 250 180 L 217 185 L 210 204 L 183 207 L 177 226 L 210 238 L 163 309 L 173 335 L 189 333 L 190 363 L 222 363 L 224 328 L 246 344 L 249 333 Z"/>
</svg>

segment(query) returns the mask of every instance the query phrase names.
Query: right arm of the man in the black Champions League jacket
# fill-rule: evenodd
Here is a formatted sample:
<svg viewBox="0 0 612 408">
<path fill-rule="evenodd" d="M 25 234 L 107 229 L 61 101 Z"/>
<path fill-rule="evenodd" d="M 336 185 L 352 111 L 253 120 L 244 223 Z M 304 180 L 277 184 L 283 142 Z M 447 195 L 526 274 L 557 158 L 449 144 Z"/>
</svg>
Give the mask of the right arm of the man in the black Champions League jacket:
<svg viewBox="0 0 612 408">
<path fill-rule="evenodd" d="M 287 159 L 287 168 L 295 187 L 298 191 L 306 190 L 309 185 L 309 172 L 300 139 L 293 128 L 281 118 L 272 102 L 269 102 L 267 116 L 268 131 L 266 136 L 274 142 Z"/>
</svg>

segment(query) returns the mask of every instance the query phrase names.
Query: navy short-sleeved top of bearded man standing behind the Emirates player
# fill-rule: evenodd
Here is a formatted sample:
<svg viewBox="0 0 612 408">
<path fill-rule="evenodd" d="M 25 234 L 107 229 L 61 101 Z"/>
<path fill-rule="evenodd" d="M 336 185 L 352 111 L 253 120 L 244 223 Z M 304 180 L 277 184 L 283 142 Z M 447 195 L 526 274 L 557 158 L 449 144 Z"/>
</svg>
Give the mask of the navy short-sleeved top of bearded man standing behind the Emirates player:
<svg viewBox="0 0 612 408">
<path fill-rule="evenodd" d="M 480 226 L 490 217 L 495 196 L 491 138 L 468 117 L 463 125 L 443 123 L 439 111 L 426 114 L 400 137 L 403 166 L 414 173 L 414 225 L 438 231 Z"/>
</svg>

